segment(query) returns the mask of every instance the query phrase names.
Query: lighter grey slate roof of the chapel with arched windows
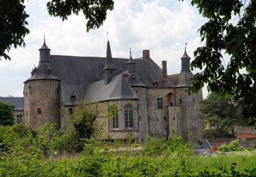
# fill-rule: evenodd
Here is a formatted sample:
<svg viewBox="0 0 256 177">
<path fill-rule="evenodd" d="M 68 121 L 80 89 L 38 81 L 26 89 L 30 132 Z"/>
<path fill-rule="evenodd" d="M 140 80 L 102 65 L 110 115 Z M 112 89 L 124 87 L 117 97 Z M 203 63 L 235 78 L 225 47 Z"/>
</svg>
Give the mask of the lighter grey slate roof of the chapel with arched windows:
<svg viewBox="0 0 256 177">
<path fill-rule="evenodd" d="M 98 80 L 87 86 L 85 89 L 85 101 L 96 102 L 113 99 L 137 99 L 132 88 L 126 82 L 123 74 L 112 78 L 109 84 L 104 84 L 104 80 Z"/>
</svg>

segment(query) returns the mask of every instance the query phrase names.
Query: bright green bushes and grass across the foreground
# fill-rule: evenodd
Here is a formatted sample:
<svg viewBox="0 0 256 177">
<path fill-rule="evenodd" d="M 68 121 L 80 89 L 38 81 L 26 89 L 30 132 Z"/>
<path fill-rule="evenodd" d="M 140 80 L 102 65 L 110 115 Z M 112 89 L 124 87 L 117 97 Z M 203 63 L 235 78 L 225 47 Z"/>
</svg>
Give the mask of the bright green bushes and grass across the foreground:
<svg viewBox="0 0 256 177">
<path fill-rule="evenodd" d="M 84 139 L 77 153 L 61 148 L 72 142 L 59 143 L 65 136 L 66 132 L 54 132 L 51 125 L 40 129 L 1 126 L 0 176 L 254 176 L 256 172 L 255 150 L 196 156 L 190 144 L 175 136 L 149 137 L 144 149 L 137 151 L 136 147 L 117 150 L 122 142 Z"/>
</svg>

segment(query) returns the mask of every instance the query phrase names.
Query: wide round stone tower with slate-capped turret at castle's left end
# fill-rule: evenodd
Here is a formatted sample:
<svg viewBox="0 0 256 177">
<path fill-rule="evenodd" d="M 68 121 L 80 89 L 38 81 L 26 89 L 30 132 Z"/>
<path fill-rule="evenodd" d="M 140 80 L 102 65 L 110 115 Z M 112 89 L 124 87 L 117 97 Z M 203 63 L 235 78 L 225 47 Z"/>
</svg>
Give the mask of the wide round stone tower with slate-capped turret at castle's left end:
<svg viewBox="0 0 256 177">
<path fill-rule="evenodd" d="M 31 77 L 24 82 L 25 124 L 40 127 L 44 123 L 53 123 L 60 127 L 59 84 L 51 65 L 51 49 L 44 44 L 39 49 L 38 67 L 31 72 Z"/>
</svg>

